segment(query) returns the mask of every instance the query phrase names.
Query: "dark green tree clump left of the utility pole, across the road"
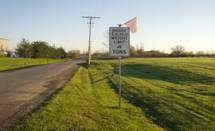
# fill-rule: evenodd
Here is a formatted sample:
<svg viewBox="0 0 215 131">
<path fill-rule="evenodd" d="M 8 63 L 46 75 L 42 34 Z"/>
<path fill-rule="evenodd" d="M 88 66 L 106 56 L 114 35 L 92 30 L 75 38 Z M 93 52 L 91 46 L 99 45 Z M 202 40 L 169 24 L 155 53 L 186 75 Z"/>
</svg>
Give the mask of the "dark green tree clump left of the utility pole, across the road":
<svg viewBox="0 0 215 131">
<path fill-rule="evenodd" d="M 14 53 L 16 54 L 14 56 Z M 56 47 L 50 45 L 46 41 L 33 41 L 30 42 L 26 39 L 22 39 L 15 48 L 14 51 L 1 51 L 0 57 L 23 57 L 23 58 L 80 58 L 80 50 L 70 50 L 66 52 L 63 47 Z"/>
</svg>

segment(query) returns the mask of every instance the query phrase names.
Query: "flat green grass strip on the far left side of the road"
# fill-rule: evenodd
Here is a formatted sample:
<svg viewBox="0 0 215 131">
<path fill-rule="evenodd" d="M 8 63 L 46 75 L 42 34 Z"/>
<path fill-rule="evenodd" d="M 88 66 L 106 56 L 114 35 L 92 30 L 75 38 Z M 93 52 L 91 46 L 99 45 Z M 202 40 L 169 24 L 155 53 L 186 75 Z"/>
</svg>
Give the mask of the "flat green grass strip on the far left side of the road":
<svg viewBox="0 0 215 131">
<path fill-rule="evenodd" d="M 59 62 L 57 59 L 0 58 L 0 71 Z"/>
</svg>

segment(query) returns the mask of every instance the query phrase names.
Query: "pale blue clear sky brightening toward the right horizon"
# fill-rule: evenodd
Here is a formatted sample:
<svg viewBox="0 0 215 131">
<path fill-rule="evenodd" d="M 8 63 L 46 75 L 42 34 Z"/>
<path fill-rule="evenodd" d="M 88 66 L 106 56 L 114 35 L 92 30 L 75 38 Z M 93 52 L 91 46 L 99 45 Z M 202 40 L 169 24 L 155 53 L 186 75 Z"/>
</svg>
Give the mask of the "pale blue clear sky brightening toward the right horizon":
<svg viewBox="0 0 215 131">
<path fill-rule="evenodd" d="M 87 51 L 89 26 L 82 16 L 99 16 L 92 49 L 107 50 L 109 27 L 137 16 L 131 45 L 169 52 L 215 50 L 215 0 L 0 0 L 0 38 L 14 49 L 22 38 L 47 41 L 67 51 Z"/>
</svg>

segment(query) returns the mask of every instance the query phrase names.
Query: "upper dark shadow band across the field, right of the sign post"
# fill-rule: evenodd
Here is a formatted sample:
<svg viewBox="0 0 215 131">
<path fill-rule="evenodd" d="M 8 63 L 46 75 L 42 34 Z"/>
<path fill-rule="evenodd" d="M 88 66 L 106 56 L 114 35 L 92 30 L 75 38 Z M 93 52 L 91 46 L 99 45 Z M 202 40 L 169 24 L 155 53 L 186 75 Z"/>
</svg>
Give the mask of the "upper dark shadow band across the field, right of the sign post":
<svg viewBox="0 0 215 131">
<path fill-rule="evenodd" d="M 114 70 L 118 73 L 118 70 Z M 131 76 L 141 79 L 153 79 L 171 82 L 175 84 L 182 83 L 201 83 L 211 85 L 215 79 L 210 76 L 196 74 L 182 69 L 172 69 L 150 64 L 127 64 L 122 66 L 123 76 Z"/>
</svg>

